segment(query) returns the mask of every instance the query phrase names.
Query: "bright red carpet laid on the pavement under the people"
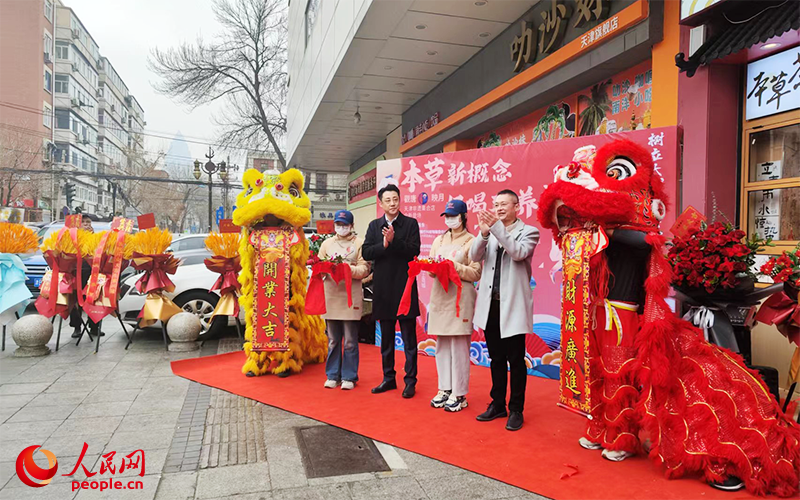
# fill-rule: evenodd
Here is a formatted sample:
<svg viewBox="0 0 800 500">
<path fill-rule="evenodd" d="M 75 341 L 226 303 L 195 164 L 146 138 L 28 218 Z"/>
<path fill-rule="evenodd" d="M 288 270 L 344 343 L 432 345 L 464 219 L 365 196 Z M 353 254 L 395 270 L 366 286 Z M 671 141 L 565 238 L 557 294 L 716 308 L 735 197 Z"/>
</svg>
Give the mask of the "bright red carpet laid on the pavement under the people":
<svg viewBox="0 0 800 500">
<path fill-rule="evenodd" d="M 309 365 L 300 375 L 286 379 L 247 378 L 240 371 L 242 352 L 174 361 L 172 371 L 558 500 L 753 498 L 743 491 L 717 491 L 693 478 L 667 480 L 644 457 L 612 463 L 603 460 L 600 452 L 580 448 L 578 438 L 585 420 L 556 407 L 557 385 L 552 380 L 528 377 L 525 426 L 518 432 L 505 430 L 505 419 L 475 420 L 489 402 L 487 368 L 472 367 L 470 406 L 460 413 L 430 407 L 437 390 L 436 366 L 427 356 L 419 358 L 416 397 L 403 399 L 400 390 L 371 394 L 370 388 L 381 380 L 380 353 L 374 346 L 360 348 L 361 381 L 350 392 L 324 389 L 323 365 Z M 398 352 L 395 361 L 401 389 L 403 359 Z M 577 466 L 578 474 L 561 479 L 572 471 L 565 464 Z"/>
</svg>

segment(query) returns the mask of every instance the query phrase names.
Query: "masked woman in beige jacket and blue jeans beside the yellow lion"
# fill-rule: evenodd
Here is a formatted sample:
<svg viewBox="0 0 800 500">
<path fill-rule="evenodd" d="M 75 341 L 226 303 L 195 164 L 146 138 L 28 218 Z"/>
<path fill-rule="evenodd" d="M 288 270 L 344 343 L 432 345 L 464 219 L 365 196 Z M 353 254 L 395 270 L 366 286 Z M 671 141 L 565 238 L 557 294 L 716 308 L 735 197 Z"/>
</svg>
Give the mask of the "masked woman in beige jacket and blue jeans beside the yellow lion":
<svg viewBox="0 0 800 500">
<path fill-rule="evenodd" d="M 334 216 L 334 224 L 336 236 L 322 242 L 318 255 L 323 260 L 342 257 L 350 264 L 353 307 L 347 305 L 345 282 L 337 285 L 326 275 L 323 279 L 327 312 L 322 316 L 328 327 L 328 360 L 325 363 L 328 379 L 325 387 L 333 389 L 341 383 L 342 389 L 347 390 L 355 387 L 358 381 L 358 324 L 364 310 L 361 280 L 369 275 L 369 264 L 361 256 L 364 240 L 353 233 L 353 214 L 339 210 Z"/>
</svg>

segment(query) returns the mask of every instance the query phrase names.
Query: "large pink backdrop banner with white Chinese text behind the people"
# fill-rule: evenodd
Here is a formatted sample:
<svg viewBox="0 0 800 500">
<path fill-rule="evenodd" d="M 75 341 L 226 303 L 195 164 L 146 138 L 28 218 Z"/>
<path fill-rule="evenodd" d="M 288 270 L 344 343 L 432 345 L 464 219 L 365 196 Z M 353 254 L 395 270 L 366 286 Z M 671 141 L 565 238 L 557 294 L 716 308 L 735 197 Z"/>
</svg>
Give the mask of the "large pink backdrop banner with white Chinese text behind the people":
<svg viewBox="0 0 800 500">
<path fill-rule="evenodd" d="M 491 209 L 494 195 L 501 189 L 513 189 L 520 199 L 519 218 L 536 226 L 537 200 L 544 186 L 553 181 L 553 168 L 569 163 L 578 148 L 590 144 L 600 147 L 622 138 L 645 146 L 652 154 L 658 175 L 664 178 L 666 192 L 672 198 L 661 224 L 666 233 L 675 221 L 671 202 L 676 198 L 680 163 L 678 127 L 385 160 L 378 162 L 378 186 L 387 182 L 399 185 L 401 210 L 419 222 L 420 254 L 427 256 L 434 238 L 447 229 L 440 214 L 449 200 L 460 199 L 467 204 L 468 229 L 477 234 L 477 212 Z M 381 214 L 378 208 L 378 215 Z M 534 335 L 526 338 L 525 362 L 528 373 L 551 379 L 559 378 L 562 365 L 561 257 L 561 249 L 550 232 L 542 231 L 532 263 Z M 431 356 L 435 353 L 436 338 L 427 334 L 426 311 L 432 283 L 433 279 L 425 273 L 417 278 L 422 311 L 417 324 L 417 346 L 420 352 Z M 402 340 L 398 338 L 395 345 L 402 348 Z M 475 364 L 489 364 L 480 331 L 473 334 L 470 357 Z"/>
</svg>

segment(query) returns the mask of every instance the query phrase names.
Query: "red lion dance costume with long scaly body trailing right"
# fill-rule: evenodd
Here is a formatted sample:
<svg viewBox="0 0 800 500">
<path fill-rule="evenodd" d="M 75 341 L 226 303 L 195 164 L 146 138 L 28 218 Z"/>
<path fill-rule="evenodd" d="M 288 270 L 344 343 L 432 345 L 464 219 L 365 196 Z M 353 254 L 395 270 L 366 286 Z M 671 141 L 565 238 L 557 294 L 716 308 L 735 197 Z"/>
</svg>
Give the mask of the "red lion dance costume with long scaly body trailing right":
<svg viewBox="0 0 800 500">
<path fill-rule="evenodd" d="M 672 278 L 659 233 L 666 196 L 650 153 L 615 141 L 596 155 L 578 150 L 576 159 L 557 169 L 538 215 L 559 243 L 576 228 L 595 231 L 599 242 L 590 260 L 593 399 L 581 445 L 622 460 L 641 449 L 644 430 L 652 443 L 650 458 L 666 467 L 669 478 L 738 478 L 754 494 L 793 495 L 800 477 L 800 427 L 785 417 L 756 372 L 706 342 L 665 301 Z M 606 232 L 610 244 L 603 250 Z M 621 246 L 617 234 L 624 235 Z M 630 257 L 637 236 L 646 254 L 631 270 L 638 262 Z M 623 250 L 618 255 L 611 253 L 615 245 Z M 624 277 L 614 275 L 625 266 Z M 632 286 L 641 301 L 614 300 L 620 289 L 636 296 Z"/>
</svg>

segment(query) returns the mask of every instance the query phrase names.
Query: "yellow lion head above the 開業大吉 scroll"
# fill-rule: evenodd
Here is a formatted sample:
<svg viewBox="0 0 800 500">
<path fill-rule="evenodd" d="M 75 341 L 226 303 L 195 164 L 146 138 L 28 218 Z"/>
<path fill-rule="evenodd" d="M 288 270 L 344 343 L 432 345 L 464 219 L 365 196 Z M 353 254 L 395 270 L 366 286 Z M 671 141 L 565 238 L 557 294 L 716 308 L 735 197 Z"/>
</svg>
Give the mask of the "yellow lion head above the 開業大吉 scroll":
<svg viewBox="0 0 800 500">
<path fill-rule="evenodd" d="M 303 174 L 297 169 L 264 172 L 249 169 L 242 177 L 242 192 L 236 197 L 233 223 L 257 228 L 288 223 L 302 227 L 311 220 L 311 200 L 303 188 Z"/>
</svg>

